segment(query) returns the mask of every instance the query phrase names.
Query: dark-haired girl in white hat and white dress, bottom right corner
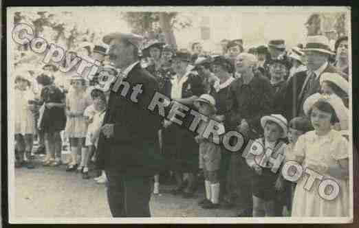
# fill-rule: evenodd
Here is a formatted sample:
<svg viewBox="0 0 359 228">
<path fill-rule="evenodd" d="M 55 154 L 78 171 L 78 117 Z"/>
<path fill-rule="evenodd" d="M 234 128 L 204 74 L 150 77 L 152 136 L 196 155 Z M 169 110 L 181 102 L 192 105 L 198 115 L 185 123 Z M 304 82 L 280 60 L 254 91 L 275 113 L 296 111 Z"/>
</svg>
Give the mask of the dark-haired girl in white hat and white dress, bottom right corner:
<svg viewBox="0 0 359 228">
<path fill-rule="evenodd" d="M 340 132 L 332 130 L 333 124 L 338 122 L 334 105 L 326 100 L 318 100 L 305 106 L 314 130 L 298 138 L 294 155 L 303 168 L 322 175 L 322 180 L 331 179 L 338 183 L 338 195 L 334 195 L 335 198 L 324 198 L 330 194 L 330 190 L 328 193 L 326 187 L 323 193 L 318 179 L 307 190 L 309 175 L 305 174 L 296 185 L 292 217 L 349 216 L 348 141 Z M 333 187 L 331 189 L 334 190 Z"/>
</svg>

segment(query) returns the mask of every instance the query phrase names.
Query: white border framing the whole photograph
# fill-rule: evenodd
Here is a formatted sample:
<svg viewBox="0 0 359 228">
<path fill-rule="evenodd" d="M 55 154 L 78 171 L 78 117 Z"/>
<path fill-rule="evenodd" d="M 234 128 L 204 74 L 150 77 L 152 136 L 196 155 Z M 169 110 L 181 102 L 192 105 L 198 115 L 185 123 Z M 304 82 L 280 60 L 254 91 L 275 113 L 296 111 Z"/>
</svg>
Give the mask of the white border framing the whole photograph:
<svg viewBox="0 0 359 228">
<path fill-rule="evenodd" d="M 8 19 L 8 31 L 7 31 L 7 39 L 8 39 L 8 57 L 12 56 L 10 53 L 12 42 L 10 39 L 11 29 L 9 25 L 12 25 L 13 17 L 11 16 L 13 12 L 16 11 L 39 11 L 39 10 L 87 10 L 89 8 L 93 8 L 91 6 L 85 7 L 11 7 L 7 9 L 7 19 Z M 287 14 L 292 14 L 292 12 L 300 13 L 300 12 L 347 12 L 348 16 L 348 36 L 349 36 L 349 47 L 351 47 L 351 14 L 350 7 L 336 7 L 336 6 L 325 6 L 325 7 L 316 7 L 316 6 L 211 6 L 211 7 L 203 7 L 203 6 L 188 6 L 188 7 L 173 7 L 173 6 L 161 6 L 161 7 L 149 7 L 149 6 L 141 6 L 141 7 L 106 7 L 106 6 L 96 6 L 96 8 L 101 8 L 103 10 L 116 10 L 119 11 L 176 11 L 176 12 L 188 12 L 188 11 L 198 11 L 202 10 L 202 12 L 213 12 L 217 10 L 223 11 L 233 11 L 233 10 L 241 10 L 241 13 L 258 13 L 258 10 L 261 10 L 261 13 L 276 13 L 281 11 L 281 13 L 285 12 Z M 10 61 L 12 58 L 8 58 Z M 349 72 L 351 72 L 351 49 L 349 49 Z M 9 63 L 9 62 L 8 62 Z M 8 64 L 8 192 L 14 192 L 11 190 L 15 189 L 14 183 L 14 157 L 12 155 L 12 151 L 14 151 L 14 121 L 12 116 L 15 114 L 11 109 L 13 104 L 13 95 L 14 89 L 11 86 L 11 75 L 10 75 L 10 66 Z M 15 217 L 15 197 L 14 194 L 8 194 L 8 205 L 9 205 L 9 223 L 14 224 L 25 224 L 25 223 L 34 223 L 34 224 L 47 224 L 47 223 L 61 223 L 61 224 L 70 224 L 70 223 L 148 223 L 148 224 L 158 224 L 158 223 L 186 223 L 186 224 L 197 224 L 197 223 L 228 223 L 228 224 L 237 224 L 237 223 L 312 223 L 312 224 L 323 224 L 323 223 L 353 223 L 353 119 L 352 119 L 352 80 L 349 78 L 350 89 L 349 89 L 349 121 L 351 122 L 349 126 L 349 189 L 350 189 L 350 216 L 349 217 L 281 217 L 281 218 L 230 218 L 230 217 L 211 217 L 211 218 L 177 218 L 177 217 L 153 217 L 153 218 L 21 218 L 18 219 Z M 16 114 L 15 114 L 16 115 Z M 11 141 L 11 143 L 10 143 Z"/>
</svg>

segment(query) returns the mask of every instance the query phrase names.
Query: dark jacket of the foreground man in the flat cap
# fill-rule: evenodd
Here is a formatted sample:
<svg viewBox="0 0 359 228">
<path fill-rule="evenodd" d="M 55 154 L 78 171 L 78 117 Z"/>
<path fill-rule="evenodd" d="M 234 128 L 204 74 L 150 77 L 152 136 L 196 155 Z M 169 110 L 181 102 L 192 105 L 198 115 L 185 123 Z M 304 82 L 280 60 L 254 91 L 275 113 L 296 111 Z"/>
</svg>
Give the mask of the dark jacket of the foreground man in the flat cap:
<svg viewBox="0 0 359 228">
<path fill-rule="evenodd" d="M 133 176 L 152 176 L 164 167 L 157 137 L 161 118 L 157 110 L 151 113 L 147 109 L 158 83 L 140 65 L 135 65 L 124 81 L 130 84 L 127 95 L 121 95 L 124 86 L 118 92 L 111 89 L 104 124 L 115 124 L 114 135 L 110 139 L 100 135 L 98 166 Z M 137 103 L 130 99 L 136 84 L 142 84 Z"/>
</svg>

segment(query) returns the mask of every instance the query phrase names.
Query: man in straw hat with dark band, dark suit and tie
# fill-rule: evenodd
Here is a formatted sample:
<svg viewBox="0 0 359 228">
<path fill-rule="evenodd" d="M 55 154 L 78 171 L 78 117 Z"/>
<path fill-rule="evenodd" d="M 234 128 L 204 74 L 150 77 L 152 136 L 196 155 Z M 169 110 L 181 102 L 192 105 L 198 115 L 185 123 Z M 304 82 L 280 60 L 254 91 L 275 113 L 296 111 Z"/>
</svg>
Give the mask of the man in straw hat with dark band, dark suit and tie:
<svg viewBox="0 0 359 228">
<path fill-rule="evenodd" d="M 307 58 L 308 70 L 294 74 L 288 81 L 283 101 L 283 111 L 288 120 L 304 115 L 303 103 L 310 95 L 320 92 L 320 76 L 323 73 L 337 72 L 329 65 L 329 57 L 334 53 L 331 52 L 325 36 L 308 36 L 303 51 Z"/>
</svg>

